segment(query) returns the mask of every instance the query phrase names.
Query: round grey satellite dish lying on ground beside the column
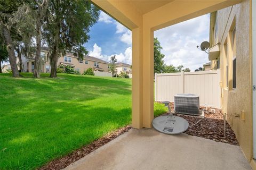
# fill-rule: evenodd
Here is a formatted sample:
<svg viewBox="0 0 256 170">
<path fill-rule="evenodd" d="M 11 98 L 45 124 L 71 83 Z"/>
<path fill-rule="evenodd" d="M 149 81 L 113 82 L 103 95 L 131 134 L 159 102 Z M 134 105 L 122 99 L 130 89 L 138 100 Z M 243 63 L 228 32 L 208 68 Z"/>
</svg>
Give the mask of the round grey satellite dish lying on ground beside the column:
<svg viewBox="0 0 256 170">
<path fill-rule="evenodd" d="M 153 127 L 162 133 L 180 134 L 188 129 L 188 121 L 179 116 L 158 116 L 152 122 Z"/>
</svg>

